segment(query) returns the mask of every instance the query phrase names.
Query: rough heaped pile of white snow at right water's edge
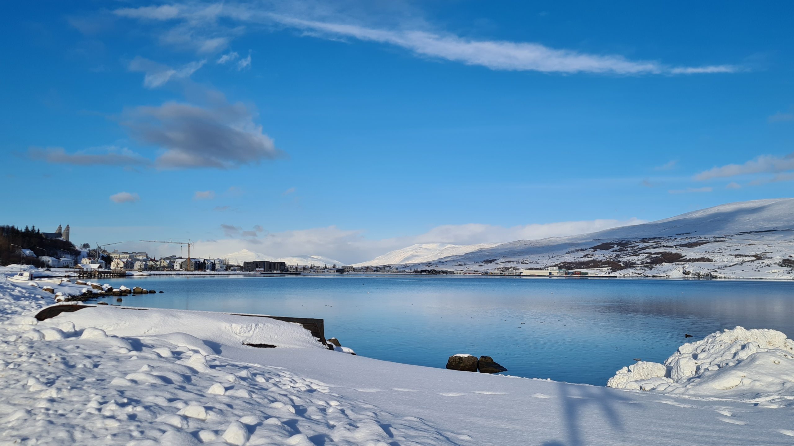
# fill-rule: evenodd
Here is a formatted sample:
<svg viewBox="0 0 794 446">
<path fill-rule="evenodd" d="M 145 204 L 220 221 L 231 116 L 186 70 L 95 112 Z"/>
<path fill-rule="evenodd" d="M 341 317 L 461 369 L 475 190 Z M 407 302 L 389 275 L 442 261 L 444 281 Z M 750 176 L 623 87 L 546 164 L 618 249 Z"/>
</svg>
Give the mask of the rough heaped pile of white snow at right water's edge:
<svg viewBox="0 0 794 446">
<path fill-rule="evenodd" d="M 623 367 L 607 386 L 746 401 L 794 398 L 794 340 L 776 330 L 726 329 L 680 346 L 664 364 Z"/>
</svg>

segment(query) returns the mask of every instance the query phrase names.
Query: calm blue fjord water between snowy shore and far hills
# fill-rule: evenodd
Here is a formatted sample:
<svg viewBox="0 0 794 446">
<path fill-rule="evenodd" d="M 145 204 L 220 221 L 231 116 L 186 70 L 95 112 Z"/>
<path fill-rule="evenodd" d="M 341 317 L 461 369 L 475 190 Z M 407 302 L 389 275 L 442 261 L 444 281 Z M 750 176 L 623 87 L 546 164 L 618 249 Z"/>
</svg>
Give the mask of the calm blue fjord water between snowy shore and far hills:
<svg viewBox="0 0 794 446">
<path fill-rule="evenodd" d="M 794 283 L 481 276 L 129 277 L 125 306 L 320 317 L 361 356 L 444 367 L 492 356 L 507 375 L 599 386 L 634 358 L 742 325 L 794 336 Z M 115 298 L 105 298 L 116 303 Z"/>
</svg>

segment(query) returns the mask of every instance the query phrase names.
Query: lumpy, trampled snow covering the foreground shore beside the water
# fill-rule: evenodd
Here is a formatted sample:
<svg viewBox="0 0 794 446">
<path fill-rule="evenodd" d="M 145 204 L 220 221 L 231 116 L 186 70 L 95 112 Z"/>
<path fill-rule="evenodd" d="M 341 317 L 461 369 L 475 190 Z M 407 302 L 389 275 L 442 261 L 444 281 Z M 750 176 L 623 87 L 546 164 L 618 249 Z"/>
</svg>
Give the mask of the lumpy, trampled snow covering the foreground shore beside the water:
<svg viewBox="0 0 794 446">
<path fill-rule="evenodd" d="M 725 398 L 716 388 L 689 394 L 686 385 L 665 394 L 389 363 L 327 350 L 298 325 L 260 318 L 115 306 L 30 316 L 53 303 L 52 294 L 0 276 L 0 444 L 794 442 L 789 387 L 772 387 L 750 367 L 770 352 L 792 361 L 777 352 L 791 341 L 775 333 L 682 347 L 688 371 L 685 355 L 722 358 L 738 342 L 742 361 L 717 361 L 717 372 L 759 376 L 753 398 L 765 383 L 777 397 L 757 404 L 730 389 Z M 756 347 L 745 346 L 752 340 Z"/>
</svg>

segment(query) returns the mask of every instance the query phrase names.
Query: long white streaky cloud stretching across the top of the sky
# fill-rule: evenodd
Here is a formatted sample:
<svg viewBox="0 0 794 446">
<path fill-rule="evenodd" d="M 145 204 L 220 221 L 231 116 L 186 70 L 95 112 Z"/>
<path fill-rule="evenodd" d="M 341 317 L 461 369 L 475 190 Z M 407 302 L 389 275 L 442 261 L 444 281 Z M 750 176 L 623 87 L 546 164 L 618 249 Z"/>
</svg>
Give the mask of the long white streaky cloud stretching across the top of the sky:
<svg viewBox="0 0 794 446">
<path fill-rule="evenodd" d="M 303 36 L 330 40 L 350 38 L 389 44 L 404 48 L 417 56 L 488 67 L 491 70 L 615 75 L 696 75 L 741 70 L 740 67 L 730 64 L 676 67 L 655 60 L 630 60 L 621 55 L 550 48 L 537 42 L 477 40 L 438 31 L 431 26 L 412 29 L 405 25 L 394 28 L 360 25 L 345 21 L 345 14 L 333 13 L 331 6 L 314 10 L 285 9 L 289 8 L 191 2 L 168 7 L 123 8 L 115 10 L 114 13 L 120 17 L 143 21 L 175 21 L 176 25 L 160 40 L 170 44 L 191 43 L 202 52 L 225 47 L 229 40 L 243 32 L 245 25 L 264 25 L 266 28 L 280 25 L 300 29 Z M 318 10 L 322 12 L 318 13 Z M 222 19 L 237 26 L 224 29 L 218 25 Z M 213 40 L 217 41 L 209 44 Z"/>
</svg>

